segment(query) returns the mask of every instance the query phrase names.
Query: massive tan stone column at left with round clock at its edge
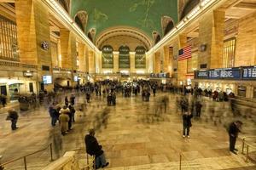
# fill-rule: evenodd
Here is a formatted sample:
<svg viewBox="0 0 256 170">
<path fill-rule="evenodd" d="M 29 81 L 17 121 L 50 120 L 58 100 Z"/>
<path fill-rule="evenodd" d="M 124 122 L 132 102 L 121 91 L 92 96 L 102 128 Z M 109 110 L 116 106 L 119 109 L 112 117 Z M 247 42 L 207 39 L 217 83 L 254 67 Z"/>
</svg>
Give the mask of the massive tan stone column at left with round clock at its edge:
<svg viewBox="0 0 256 170">
<path fill-rule="evenodd" d="M 22 0 L 15 1 L 15 14 L 20 62 L 38 65 L 38 82 L 42 82 L 43 75 L 52 76 L 51 50 L 41 47 L 42 42 L 50 44 L 49 12 L 41 0 Z M 50 91 L 53 84 L 44 88 Z"/>
</svg>

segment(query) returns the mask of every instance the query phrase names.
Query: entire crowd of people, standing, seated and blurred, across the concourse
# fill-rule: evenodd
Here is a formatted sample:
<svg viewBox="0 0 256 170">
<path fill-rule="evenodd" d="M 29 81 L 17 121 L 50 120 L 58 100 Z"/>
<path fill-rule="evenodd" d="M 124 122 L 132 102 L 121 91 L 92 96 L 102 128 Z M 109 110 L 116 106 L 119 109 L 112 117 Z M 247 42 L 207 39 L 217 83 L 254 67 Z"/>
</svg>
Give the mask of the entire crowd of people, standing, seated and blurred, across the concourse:
<svg viewBox="0 0 256 170">
<path fill-rule="evenodd" d="M 108 106 L 117 105 L 116 99 L 117 95 L 122 96 L 124 98 L 131 98 L 132 96 L 137 96 L 140 94 L 142 96 L 142 100 L 148 102 L 151 93 L 153 96 L 156 96 L 158 90 L 162 92 L 169 92 L 176 95 L 176 104 L 177 109 L 181 111 L 181 120 L 183 122 L 183 138 L 190 138 L 190 127 L 192 127 L 192 119 L 193 117 L 200 118 L 201 117 L 201 109 L 205 106 L 201 102 L 202 94 L 211 97 L 213 100 L 216 100 L 217 94 L 215 92 L 203 92 L 201 88 L 186 88 L 186 87 L 177 87 L 172 84 L 158 84 L 157 82 L 140 80 L 136 82 L 117 82 L 117 81 L 100 81 L 95 83 L 87 82 L 84 85 L 77 86 L 76 95 L 84 94 L 84 104 L 91 102 L 91 97 L 98 96 L 107 100 Z M 95 94 L 95 95 L 94 95 Z M 188 95 L 191 94 L 191 95 Z M 51 117 L 51 126 L 55 127 L 56 123 L 59 122 L 59 127 L 61 134 L 63 136 L 70 133 L 73 129 L 73 123 L 75 122 L 76 115 L 76 95 L 71 94 L 70 96 L 66 95 L 62 97 L 57 95 L 57 90 L 53 93 L 39 93 L 38 99 L 47 100 L 47 103 L 50 102 L 49 105 L 49 116 Z M 218 93 L 218 98 L 221 100 L 220 96 L 222 94 Z M 190 97 L 189 97 L 190 96 Z M 56 99 L 58 97 L 58 99 Z M 64 97 L 64 99 L 63 99 Z M 1 99 L 1 98 L 0 98 Z M 35 95 L 32 96 L 33 102 L 37 101 L 37 97 Z M 30 103 L 28 98 L 20 97 L 20 103 Z M 167 105 L 169 103 L 168 97 L 164 97 L 163 99 L 163 108 L 165 111 Z M 225 97 L 223 100 L 226 100 Z M 2 101 L 2 99 L 1 99 Z M 86 101 L 86 102 L 85 102 Z M 172 102 L 175 99 L 172 100 Z M 2 102 L 3 103 L 3 102 Z M 162 106 L 161 106 L 162 107 Z M 82 109 L 79 109 L 82 111 Z M 177 111 L 178 112 L 178 111 Z M 18 121 L 19 115 L 15 110 L 9 110 L 9 114 L 6 120 L 11 121 L 11 129 L 16 130 L 16 123 Z M 230 151 L 236 154 L 236 138 L 238 133 L 240 132 L 241 122 L 232 122 L 229 127 L 229 136 L 230 136 Z M 96 168 L 106 167 L 108 166 L 108 162 L 104 156 L 104 152 L 102 150 L 102 145 L 98 144 L 96 138 L 94 137 L 95 130 L 90 129 L 90 133 L 87 134 L 84 138 L 86 151 L 91 156 L 96 156 Z"/>
</svg>

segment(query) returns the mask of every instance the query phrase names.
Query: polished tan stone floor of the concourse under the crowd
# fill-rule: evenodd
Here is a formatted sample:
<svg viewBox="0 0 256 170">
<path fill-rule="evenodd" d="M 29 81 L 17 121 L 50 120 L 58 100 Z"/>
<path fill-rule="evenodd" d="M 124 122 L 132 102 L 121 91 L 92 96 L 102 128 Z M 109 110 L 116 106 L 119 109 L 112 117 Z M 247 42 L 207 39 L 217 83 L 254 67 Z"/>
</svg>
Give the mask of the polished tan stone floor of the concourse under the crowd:
<svg viewBox="0 0 256 170">
<path fill-rule="evenodd" d="M 166 112 L 161 102 L 164 96 L 169 99 Z M 44 148 L 49 143 L 53 143 L 55 159 L 67 150 L 84 150 L 84 134 L 94 127 L 96 138 L 110 162 L 108 169 L 178 169 L 180 155 L 183 169 L 256 169 L 253 162 L 245 162 L 241 140 L 236 144 L 239 154 L 230 153 L 225 129 L 229 122 L 239 119 L 244 122 L 241 136 L 255 136 L 253 110 L 243 108 L 239 116 L 234 116 L 230 103 L 202 98 L 202 116 L 193 119 L 191 138 L 183 139 L 181 115 L 176 106 L 178 97 L 160 93 L 149 102 L 143 102 L 141 96 L 123 98 L 119 95 L 116 106 L 107 106 L 106 99 L 93 96 L 86 111 L 77 113 L 73 131 L 64 137 L 58 126 L 50 126 L 47 104 L 20 112 L 17 123 L 20 128 L 15 132 L 10 130 L 10 122 L 5 121 L 6 114 L 0 114 L 2 162 Z M 82 103 L 84 97 L 77 96 L 77 110 Z M 82 159 L 85 160 L 85 156 L 80 157 Z M 26 160 L 30 169 L 40 169 L 49 163 L 49 149 Z M 22 161 L 6 169 L 20 169 Z"/>
</svg>

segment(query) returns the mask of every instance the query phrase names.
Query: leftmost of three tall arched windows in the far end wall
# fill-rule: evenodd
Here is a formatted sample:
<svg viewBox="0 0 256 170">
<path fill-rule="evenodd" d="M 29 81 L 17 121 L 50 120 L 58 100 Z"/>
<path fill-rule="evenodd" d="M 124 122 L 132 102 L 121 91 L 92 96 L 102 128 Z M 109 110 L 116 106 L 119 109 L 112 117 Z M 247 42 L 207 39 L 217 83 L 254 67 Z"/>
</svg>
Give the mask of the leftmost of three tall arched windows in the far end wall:
<svg viewBox="0 0 256 170">
<path fill-rule="evenodd" d="M 110 45 L 102 48 L 102 68 L 113 69 L 113 48 Z"/>
</svg>

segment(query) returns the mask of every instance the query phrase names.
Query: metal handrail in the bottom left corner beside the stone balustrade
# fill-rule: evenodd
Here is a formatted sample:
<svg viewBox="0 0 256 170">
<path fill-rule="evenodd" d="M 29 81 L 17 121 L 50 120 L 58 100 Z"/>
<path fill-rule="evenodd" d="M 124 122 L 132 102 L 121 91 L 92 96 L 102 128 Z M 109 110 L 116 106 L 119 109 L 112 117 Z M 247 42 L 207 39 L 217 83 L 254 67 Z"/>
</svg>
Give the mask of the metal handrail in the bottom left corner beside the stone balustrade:
<svg viewBox="0 0 256 170">
<path fill-rule="evenodd" d="M 13 162 L 15 162 L 15 161 L 19 161 L 19 160 L 22 160 L 22 159 L 23 159 L 24 169 L 27 170 L 27 166 L 26 166 L 26 157 L 27 157 L 27 156 L 32 156 L 32 155 L 34 155 L 34 154 L 37 154 L 38 152 L 47 150 L 48 148 L 49 148 L 49 153 L 50 153 L 50 161 L 53 161 L 52 143 L 50 143 L 50 144 L 48 144 L 44 149 L 37 150 L 37 151 L 35 151 L 35 152 L 32 152 L 32 153 L 30 153 L 30 154 L 27 154 L 26 156 L 20 156 L 20 157 L 15 158 L 15 159 L 13 159 L 13 160 L 11 160 L 11 161 L 6 161 L 6 162 L 0 164 L 0 169 L 1 169 L 1 167 L 4 168 L 4 166 L 6 166 L 6 165 L 9 165 L 9 164 L 11 164 L 11 163 L 13 163 Z"/>
</svg>

